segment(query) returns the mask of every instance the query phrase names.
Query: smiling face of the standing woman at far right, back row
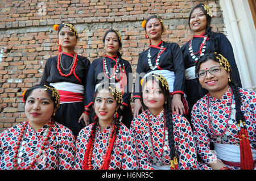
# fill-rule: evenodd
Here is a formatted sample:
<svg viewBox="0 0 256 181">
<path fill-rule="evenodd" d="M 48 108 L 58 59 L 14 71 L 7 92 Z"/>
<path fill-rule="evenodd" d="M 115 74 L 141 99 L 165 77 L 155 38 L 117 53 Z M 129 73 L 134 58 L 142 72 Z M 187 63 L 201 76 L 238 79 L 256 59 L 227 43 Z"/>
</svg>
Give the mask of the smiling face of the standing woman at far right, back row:
<svg viewBox="0 0 256 181">
<path fill-rule="evenodd" d="M 196 35 L 200 35 L 206 31 L 207 15 L 204 14 L 204 11 L 201 8 L 193 10 L 191 18 L 189 19 L 189 27 Z"/>
</svg>

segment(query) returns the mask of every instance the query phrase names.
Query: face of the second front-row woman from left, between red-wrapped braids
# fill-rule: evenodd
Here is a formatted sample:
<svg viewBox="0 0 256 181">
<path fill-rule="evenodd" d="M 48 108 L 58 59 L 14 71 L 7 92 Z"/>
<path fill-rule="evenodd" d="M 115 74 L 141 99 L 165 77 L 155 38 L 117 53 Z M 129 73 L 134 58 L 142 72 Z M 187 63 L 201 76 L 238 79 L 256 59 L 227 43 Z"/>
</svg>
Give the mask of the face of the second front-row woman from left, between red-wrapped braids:
<svg viewBox="0 0 256 181">
<path fill-rule="evenodd" d="M 118 110 L 117 101 L 112 93 L 105 89 L 98 91 L 94 101 L 94 110 L 99 121 L 111 123 L 114 112 Z"/>
</svg>

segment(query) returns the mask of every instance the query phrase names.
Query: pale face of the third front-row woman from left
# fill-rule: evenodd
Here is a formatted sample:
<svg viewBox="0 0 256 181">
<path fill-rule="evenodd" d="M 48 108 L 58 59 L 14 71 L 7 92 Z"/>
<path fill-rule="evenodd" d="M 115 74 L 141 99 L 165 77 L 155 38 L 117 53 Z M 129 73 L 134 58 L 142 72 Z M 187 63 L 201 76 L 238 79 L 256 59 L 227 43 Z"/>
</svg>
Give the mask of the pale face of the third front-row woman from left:
<svg viewBox="0 0 256 181">
<path fill-rule="evenodd" d="M 142 99 L 145 106 L 153 115 L 158 115 L 163 110 L 164 94 L 158 82 L 148 80 L 142 90 Z"/>
</svg>

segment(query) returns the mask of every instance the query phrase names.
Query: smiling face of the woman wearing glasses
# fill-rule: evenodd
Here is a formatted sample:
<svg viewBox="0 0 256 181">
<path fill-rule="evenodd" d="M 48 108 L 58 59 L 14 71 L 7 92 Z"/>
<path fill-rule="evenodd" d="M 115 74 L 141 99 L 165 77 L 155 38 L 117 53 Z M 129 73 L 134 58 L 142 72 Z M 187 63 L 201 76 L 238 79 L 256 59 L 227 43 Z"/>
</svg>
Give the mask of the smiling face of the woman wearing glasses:
<svg viewBox="0 0 256 181">
<path fill-rule="evenodd" d="M 219 67 L 220 64 L 213 60 L 208 60 L 203 62 L 200 65 L 199 72 L 201 70 L 209 70 L 213 67 Z M 230 77 L 229 72 L 227 72 L 223 66 L 221 67 L 221 71 L 216 74 L 210 74 L 209 71 L 207 71 L 207 75 L 203 78 L 199 78 L 199 82 L 201 86 L 204 87 L 204 89 L 207 89 L 210 93 L 210 95 L 223 95 L 228 90 L 228 79 Z"/>
</svg>

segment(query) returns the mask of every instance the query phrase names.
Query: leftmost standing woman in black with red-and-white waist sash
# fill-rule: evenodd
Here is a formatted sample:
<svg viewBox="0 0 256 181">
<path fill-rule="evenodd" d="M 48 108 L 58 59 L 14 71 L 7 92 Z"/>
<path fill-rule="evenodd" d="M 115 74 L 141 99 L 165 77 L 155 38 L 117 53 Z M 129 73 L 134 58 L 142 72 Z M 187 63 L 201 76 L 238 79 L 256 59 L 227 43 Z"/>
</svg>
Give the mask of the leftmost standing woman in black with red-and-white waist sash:
<svg viewBox="0 0 256 181">
<path fill-rule="evenodd" d="M 90 66 L 88 58 L 75 52 L 78 41 L 76 28 L 69 23 L 53 26 L 58 32 L 59 55 L 48 58 L 41 83 L 48 83 L 60 92 L 60 109 L 55 120 L 77 136 L 85 126 L 86 80 Z"/>
</svg>

